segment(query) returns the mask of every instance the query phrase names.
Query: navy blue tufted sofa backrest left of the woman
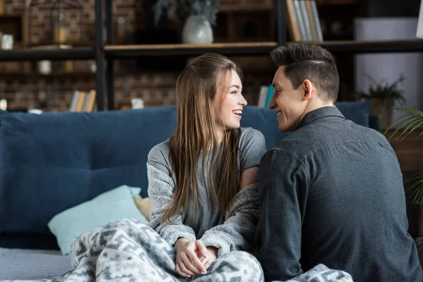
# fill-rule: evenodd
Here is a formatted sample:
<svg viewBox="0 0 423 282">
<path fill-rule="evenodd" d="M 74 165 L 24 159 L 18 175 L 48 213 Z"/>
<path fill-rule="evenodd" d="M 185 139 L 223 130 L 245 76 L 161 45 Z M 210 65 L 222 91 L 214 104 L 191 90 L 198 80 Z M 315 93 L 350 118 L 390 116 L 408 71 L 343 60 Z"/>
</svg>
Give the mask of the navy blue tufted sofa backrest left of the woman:
<svg viewBox="0 0 423 282">
<path fill-rule="evenodd" d="M 0 111 L 0 233 L 49 233 L 59 212 L 120 185 L 147 196 L 147 154 L 174 106 L 98 113 Z"/>
</svg>

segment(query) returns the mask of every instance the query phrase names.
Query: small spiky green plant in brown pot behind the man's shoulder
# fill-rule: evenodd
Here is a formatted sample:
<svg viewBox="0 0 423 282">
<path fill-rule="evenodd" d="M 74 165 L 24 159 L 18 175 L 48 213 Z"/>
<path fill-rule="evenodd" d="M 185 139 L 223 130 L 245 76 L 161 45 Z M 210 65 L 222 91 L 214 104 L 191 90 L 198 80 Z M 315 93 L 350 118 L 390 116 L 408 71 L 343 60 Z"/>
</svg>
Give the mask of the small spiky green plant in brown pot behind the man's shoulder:
<svg viewBox="0 0 423 282">
<path fill-rule="evenodd" d="M 400 84 L 405 80 L 404 75 L 392 83 L 386 80 L 376 81 L 372 76 L 367 75 L 371 85 L 367 91 L 358 91 L 357 98 L 372 100 L 373 107 L 370 111 L 372 116 L 379 116 L 381 128 L 387 128 L 392 123 L 393 105 L 396 102 L 400 104 L 405 103 L 403 90 L 400 89 Z"/>
</svg>

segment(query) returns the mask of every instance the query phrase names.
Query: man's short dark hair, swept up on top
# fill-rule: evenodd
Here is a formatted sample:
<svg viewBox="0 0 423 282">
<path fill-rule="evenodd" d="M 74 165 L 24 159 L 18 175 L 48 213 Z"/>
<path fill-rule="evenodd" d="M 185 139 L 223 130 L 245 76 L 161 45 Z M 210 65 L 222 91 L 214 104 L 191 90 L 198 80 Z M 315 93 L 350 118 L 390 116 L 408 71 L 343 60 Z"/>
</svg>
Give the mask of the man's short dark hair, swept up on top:
<svg viewBox="0 0 423 282">
<path fill-rule="evenodd" d="M 285 76 L 297 89 L 308 79 L 317 87 L 324 101 L 336 102 L 339 91 L 339 75 L 332 54 L 317 45 L 294 44 L 271 51 L 276 66 L 284 66 Z"/>
</svg>

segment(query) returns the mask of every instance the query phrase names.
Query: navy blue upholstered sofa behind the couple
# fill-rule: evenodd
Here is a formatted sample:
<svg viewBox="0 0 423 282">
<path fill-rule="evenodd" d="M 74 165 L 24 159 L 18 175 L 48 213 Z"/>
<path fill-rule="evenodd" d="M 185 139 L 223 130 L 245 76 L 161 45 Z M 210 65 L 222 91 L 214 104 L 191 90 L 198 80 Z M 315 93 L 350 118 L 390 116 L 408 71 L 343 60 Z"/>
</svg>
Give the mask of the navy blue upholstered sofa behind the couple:
<svg viewBox="0 0 423 282">
<path fill-rule="evenodd" d="M 368 116 L 371 104 L 337 106 L 346 118 L 379 130 L 377 118 Z M 119 185 L 139 187 L 147 197 L 147 154 L 175 125 L 175 106 L 40 115 L 0 111 L 0 265 L 12 258 L 8 265 L 16 267 L 15 276 L 4 275 L 39 278 L 42 274 L 27 272 L 42 269 L 47 275 L 68 268 L 67 258 L 51 251 L 58 246 L 49 220 Z M 256 106 L 245 107 L 241 125 L 262 131 L 268 149 L 289 134 L 278 131 L 274 111 Z"/>
</svg>

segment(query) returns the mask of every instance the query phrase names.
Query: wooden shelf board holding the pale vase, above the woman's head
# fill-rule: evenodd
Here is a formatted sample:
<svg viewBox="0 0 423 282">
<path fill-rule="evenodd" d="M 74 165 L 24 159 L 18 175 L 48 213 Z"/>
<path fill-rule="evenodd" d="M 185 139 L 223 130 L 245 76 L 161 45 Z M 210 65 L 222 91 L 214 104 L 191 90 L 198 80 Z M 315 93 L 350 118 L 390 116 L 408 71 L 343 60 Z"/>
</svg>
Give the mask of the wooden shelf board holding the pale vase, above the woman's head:
<svg viewBox="0 0 423 282">
<path fill-rule="evenodd" d="M 197 56 L 214 52 L 233 56 L 265 55 L 276 47 L 276 42 L 244 42 L 213 44 L 144 44 L 144 45 L 106 45 L 106 57 L 130 59 L 140 56 Z"/>
</svg>

